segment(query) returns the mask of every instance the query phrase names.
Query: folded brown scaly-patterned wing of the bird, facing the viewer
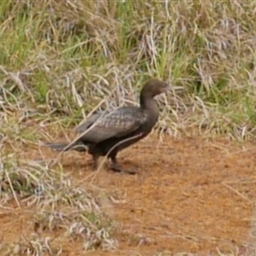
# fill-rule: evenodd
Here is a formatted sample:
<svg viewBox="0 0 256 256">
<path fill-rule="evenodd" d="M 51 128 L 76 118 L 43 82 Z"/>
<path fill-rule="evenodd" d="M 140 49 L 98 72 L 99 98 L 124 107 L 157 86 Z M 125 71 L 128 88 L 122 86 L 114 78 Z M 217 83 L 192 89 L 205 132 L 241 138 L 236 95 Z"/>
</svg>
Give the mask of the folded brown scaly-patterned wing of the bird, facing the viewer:
<svg viewBox="0 0 256 256">
<path fill-rule="evenodd" d="M 110 137 L 121 137 L 136 131 L 146 119 L 147 114 L 140 108 L 118 108 L 110 113 L 91 115 L 76 128 L 76 132 L 81 134 L 88 129 L 81 139 L 90 143 L 99 143 Z"/>
</svg>

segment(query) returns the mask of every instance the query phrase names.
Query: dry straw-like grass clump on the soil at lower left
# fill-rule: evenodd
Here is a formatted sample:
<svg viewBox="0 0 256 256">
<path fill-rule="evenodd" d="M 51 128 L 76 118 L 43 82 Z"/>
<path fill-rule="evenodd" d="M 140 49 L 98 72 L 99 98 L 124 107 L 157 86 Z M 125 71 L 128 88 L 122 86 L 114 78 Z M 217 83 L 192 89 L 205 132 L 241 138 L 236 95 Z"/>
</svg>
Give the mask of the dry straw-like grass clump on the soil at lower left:
<svg viewBox="0 0 256 256">
<path fill-rule="evenodd" d="M 61 169 L 51 170 L 36 160 L 17 160 L 15 154 L 0 160 L 3 210 L 15 204 L 8 211 L 29 216 L 28 233 L 21 232 L 19 241 L 3 243 L 1 255 L 60 255 L 61 244 L 71 241 L 80 241 L 81 250 L 86 251 L 118 246 L 112 237 L 115 225 L 102 212 L 96 195 L 79 187 Z"/>
</svg>

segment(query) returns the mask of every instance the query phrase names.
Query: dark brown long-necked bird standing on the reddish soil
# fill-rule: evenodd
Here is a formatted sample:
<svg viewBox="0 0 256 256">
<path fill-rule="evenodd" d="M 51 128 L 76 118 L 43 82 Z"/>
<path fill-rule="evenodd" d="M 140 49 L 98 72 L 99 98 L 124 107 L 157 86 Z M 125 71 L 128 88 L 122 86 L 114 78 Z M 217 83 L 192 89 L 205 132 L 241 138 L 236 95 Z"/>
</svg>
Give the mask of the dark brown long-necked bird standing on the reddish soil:
<svg viewBox="0 0 256 256">
<path fill-rule="evenodd" d="M 111 170 L 135 174 L 119 166 L 117 154 L 152 131 L 159 118 L 154 96 L 167 90 L 170 90 L 169 84 L 159 79 L 150 79 L 141 90 L 140 107 L 123 107 L 108 113 L 92 114 L 76 127 L 79 138 L 73 143 L 45 143 L 44 146 L 57 151 L 88 151 L 96 168 L 99 166 L 99 158 L 107 155 L 112 161 Z"/>
</svg>

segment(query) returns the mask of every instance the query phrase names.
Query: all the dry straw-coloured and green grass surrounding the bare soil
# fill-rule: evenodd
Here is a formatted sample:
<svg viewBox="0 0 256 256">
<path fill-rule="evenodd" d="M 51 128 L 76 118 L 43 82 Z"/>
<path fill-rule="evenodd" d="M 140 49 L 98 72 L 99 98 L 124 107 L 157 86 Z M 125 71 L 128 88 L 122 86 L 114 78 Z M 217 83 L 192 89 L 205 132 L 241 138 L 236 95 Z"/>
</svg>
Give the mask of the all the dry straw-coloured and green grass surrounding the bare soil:
<svg viewBox="0 0 256 256">
<path fill-rule="evenodd" d="M 20 148 L 37 148 L 93 109 L 136 102 L 151 77 L 174 85 L 159 98 L 157 130 L 254 137 L 255 9 L 253 1 L 1 1 L 1 205 L 29 204 L 34 225 L 82 237 L 85 249 L 116 247 L 95 195 Z M 20 236 L 6 255 L 60 254 L 44 232 Z"/>
</svg>

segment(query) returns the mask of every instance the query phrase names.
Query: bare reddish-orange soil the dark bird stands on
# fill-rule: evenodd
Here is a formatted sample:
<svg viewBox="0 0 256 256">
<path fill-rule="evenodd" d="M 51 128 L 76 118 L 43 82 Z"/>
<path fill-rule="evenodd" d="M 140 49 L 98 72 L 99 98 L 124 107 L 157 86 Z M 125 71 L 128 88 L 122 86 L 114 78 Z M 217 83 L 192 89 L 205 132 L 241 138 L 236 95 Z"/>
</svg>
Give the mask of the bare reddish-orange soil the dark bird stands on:
<svg viewBox="0 0 256 256">
<path fill-rule="evenodd" d="M 48 149 L 44 152 L 49 157 L 57 155 Z M 86 255 L 157 255 L 163 251 L 170 254 L 162 255 L 216 255 L 218 250 L 239 250 L 245 255 L 247 247 L 253 246 L 255 155 L 251 143 L 198 137 L 165 137 L 159 143 L 151 135 L 119 154 L 120 164 L 136 169 L 137 175 L 103 168 L 92 179 L 90 156 L 68 152 L 61 162 L 63 168 L 80 185 L 90 183 L 108 193 L 102 204 L 121 227 L 116 252 Z M 24 218 L 26 214 L 20 222 Z M 19 235 L 19 218 L 14 221 L 11 215 L 0 215 L 0 221 L 9 230 L 8 237 Z M 62 255 L 84 255 L 79 243 L 64 247 L 67 253 Z"/>
</svg>

